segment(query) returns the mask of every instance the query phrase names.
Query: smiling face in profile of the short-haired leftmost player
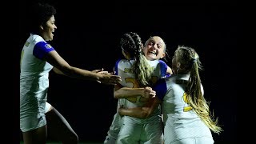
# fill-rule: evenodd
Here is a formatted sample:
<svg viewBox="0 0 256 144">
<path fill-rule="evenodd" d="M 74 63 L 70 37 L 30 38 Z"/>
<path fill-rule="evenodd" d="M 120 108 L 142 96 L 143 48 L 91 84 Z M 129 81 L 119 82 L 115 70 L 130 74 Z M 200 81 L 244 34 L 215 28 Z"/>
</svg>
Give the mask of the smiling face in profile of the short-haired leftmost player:
<svg viewBox="0 0 256 144">
<path fill-rule="evenodd" d="M 40 26 L 41 35 L 46 41 L 52 41 L 54 39 L 54 30 L 57 29 L 55 25 L 54 15 L 50 17 L 50 19 L 45 23 L 45 25 Z"/>
</svg>

